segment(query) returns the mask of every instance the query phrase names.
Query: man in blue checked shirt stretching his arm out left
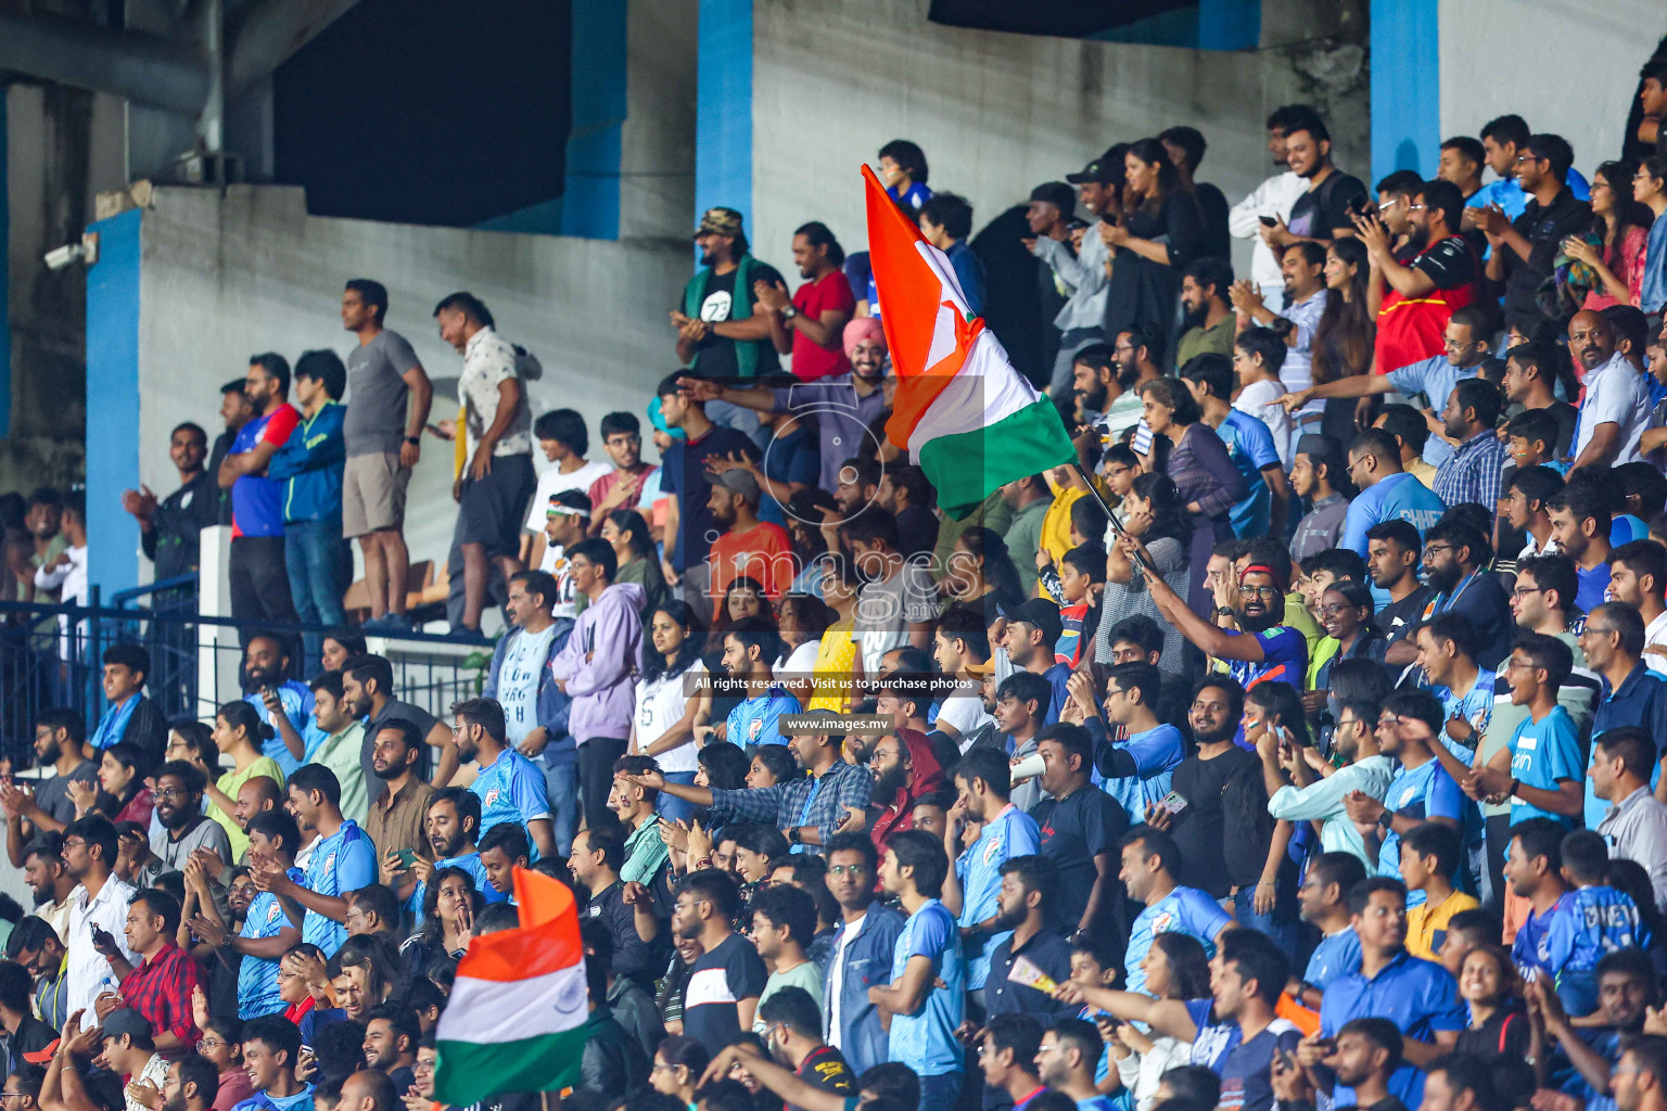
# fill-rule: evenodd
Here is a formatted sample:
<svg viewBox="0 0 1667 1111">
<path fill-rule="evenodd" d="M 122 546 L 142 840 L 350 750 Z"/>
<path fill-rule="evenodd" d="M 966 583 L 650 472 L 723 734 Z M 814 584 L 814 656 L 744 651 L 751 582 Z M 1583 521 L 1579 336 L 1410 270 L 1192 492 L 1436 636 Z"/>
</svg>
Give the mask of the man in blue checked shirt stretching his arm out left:
<svg viewBox="0 0 1667 1111">
<path fill-rule="evenodd" d="M 632 786 L 652 788 L 705 806 L 713 825 L 763 823 L 780 830 L 795 853 L 820 854 L 822 846 L 832 841 L 835 833 L 842 833 L 847 826 L 862 826 L 850 811 L 867 813 L 874 785 L 867 770 L 849 765 L 840 756 L 844 740 L 839 733 L 793 733 L 787 748 L 805 775 L 775 786 L 727 791 L 670 783 L 658 768 L 620 771 L 618 778 Z M 732 738 L 732 743 L 745 741 Z"/>
</svg>

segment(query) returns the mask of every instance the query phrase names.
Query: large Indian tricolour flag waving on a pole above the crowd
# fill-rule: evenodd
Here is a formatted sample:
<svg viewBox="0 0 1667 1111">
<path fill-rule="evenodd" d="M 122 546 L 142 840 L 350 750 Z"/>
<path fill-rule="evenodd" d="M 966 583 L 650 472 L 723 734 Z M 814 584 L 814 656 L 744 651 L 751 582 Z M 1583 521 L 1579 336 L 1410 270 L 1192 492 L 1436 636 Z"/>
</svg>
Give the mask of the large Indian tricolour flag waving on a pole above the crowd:
<svg viewBox="0 0 1667 1111">
<path fill-rule="evenodd" d="M 997 486 L 1077 461 L 1059 410 L 1025 381 L 967 308 L 955 270 L 869 167 L 869 257 L 897 370 L 887 438 L 962 518 Z"/>
</svg>

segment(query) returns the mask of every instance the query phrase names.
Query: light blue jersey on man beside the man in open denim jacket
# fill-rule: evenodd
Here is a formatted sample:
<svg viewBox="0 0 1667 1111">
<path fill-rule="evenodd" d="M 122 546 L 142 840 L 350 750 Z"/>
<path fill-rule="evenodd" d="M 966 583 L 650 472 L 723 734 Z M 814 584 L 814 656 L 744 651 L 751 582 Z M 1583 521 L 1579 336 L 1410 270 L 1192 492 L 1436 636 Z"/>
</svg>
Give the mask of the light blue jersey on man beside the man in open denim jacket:
<svg viewBox="0 0 1667 1111">
<path fill-rule="evenodd" d="M 925 1003 L 914 1014 L 894 1014 L 889 1038 L 892 1061 L 909 1066 L 917 1076 L 944 1076 L 962 1071 L 962 1049 L 955 1028 L 965 1016 L 967 963 L 960 951 L 960 931 L 949 909 L 929 899 L 904 923 L 892 951 L 892 983 L 904 978 L 909 959 L 932 959 L 932 986 Z M 944 986 L 939 988 L 937 983 Z"/>
</svg>

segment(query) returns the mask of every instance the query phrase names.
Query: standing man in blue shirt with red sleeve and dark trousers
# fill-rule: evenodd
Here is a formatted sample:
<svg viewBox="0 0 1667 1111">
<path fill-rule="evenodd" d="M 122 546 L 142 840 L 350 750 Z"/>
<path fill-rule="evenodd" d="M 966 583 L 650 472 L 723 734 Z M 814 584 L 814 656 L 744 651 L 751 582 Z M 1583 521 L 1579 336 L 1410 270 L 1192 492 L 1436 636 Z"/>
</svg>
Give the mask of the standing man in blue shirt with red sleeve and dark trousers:
<svg viewBox="0 0 1667 1111">
<path fill-rule="evenodd" d="M 248 641 L 250 621 L 293 625 L 290 578 L 283 563 L 283 490 L 267 476 L 267 465 L 288 443 L 302 415 L 285 398 L 290 365 L 282 355 L 248 360 L 243 383 L 253 416 L 237 431 L 220 463 L 220 488 L 232 490 L 232 561 L 227 568 L 232 616 Z"/>
</svg>

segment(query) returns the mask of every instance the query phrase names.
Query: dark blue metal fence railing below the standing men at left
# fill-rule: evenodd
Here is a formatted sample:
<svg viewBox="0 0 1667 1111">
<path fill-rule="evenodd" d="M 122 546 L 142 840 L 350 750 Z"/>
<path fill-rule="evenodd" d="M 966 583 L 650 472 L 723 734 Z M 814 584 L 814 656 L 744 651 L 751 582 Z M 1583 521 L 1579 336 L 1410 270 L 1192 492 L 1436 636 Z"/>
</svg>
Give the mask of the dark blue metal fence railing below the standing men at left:
<svg viewBox="0 0 1667 1111">
<path fill-rule="evenodd" d="M 152 660 L 147 693 L 170 718 L 210 720 L 215 706 L 243 696 L 242 633 L 247 623 L 197 613 L 193 583 L 160 583 L 163 590 L 123 591 L 118 605 L 100 605 L 98 590 L 87 606 L 0 601 L 0 755 L 13 766 L 32 761 L 35 716 L 47 708 L 70 708 L 88 731 L 105 711 L 102 685 L 105 648 L 118 641 L 142 645 Z M 150 608 L 132 608 L 145 596 Z M 293 645 L 322 628 L 262 625 Z M 370 638 L 368 650 L 393 665 L 395 698 L 443 716 L 453 701 L 480 693 L 492 660 L 490 645 L 458 643 L 447 636 L 405 633 Z M 310 678 L 300 650 L 290 651 L 293 678 Z"/>
</svg>

